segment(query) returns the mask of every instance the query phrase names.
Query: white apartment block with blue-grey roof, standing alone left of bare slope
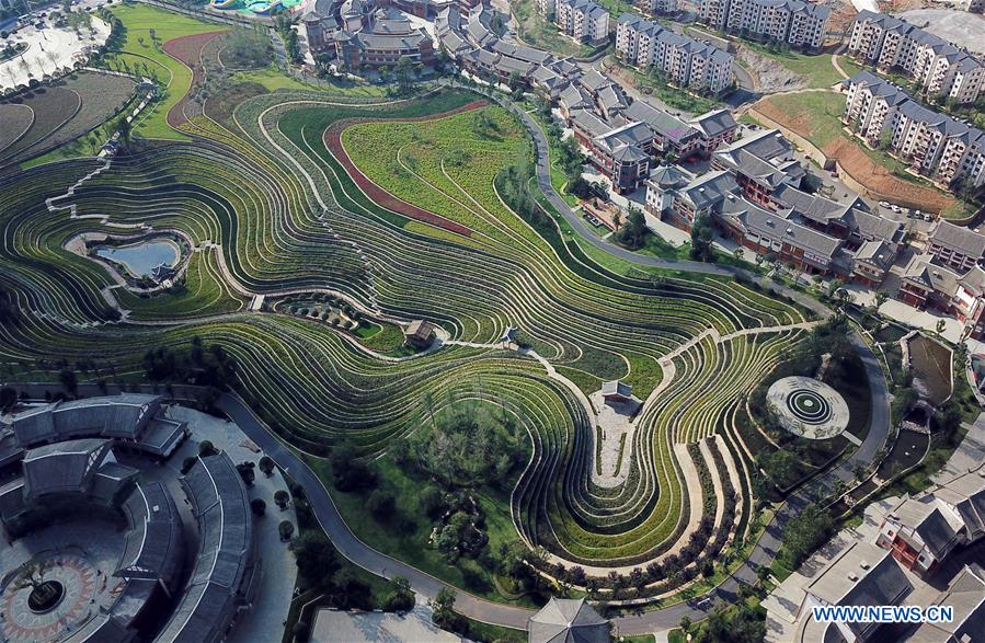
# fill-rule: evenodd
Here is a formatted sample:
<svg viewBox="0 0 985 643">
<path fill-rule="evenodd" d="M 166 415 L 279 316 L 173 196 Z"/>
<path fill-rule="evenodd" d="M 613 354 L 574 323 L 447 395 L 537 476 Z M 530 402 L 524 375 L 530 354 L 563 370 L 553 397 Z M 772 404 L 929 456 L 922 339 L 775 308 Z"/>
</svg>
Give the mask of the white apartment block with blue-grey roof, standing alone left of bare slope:
<svg viewBox="0 0 985 643">
<path fill-rule="evenodd" d="M 680 88 L 718 94 L 735 80 L 731 54 L 632 13 L 619 18 L 616 56 L 633 67 L 655 68 Z"/>
</svg>

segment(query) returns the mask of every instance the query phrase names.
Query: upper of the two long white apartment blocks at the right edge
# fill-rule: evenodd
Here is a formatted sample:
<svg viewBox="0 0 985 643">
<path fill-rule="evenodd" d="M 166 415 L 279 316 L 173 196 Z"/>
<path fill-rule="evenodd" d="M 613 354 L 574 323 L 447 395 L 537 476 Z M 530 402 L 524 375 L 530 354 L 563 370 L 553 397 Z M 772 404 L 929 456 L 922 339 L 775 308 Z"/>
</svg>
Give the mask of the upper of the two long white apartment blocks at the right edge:
<svg viewBox="0 0 985 643">
<path fill-rule="evenodd" d="M 902 71 L 929 95 L 972 103 L 985 89 L 985 65 L 981 60 L 892 15 L 860 12 L 851 28 L 848 51 L 880 70 Z"/>
</svg>

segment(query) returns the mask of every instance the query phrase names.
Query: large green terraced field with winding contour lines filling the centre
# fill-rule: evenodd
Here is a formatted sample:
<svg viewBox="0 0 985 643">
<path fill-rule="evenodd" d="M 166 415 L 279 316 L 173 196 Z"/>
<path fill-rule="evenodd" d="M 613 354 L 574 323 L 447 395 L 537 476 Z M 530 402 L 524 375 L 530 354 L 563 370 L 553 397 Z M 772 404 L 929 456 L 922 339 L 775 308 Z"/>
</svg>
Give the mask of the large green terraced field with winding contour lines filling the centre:
<svg viewBox="0 0 985 643">
<path fill-rule="evenodd" d="M 752 453 L 736 412 L 813 322 L 737 280 L 616 274 L 518 216 L 496 180 L 529 140 L 477 94 L 357 101 L 282 89 L 217 119 L 206 104 L 181 125 L 188 141 L 0 179 L 0 289 L 22 311 L 0 325 L 0 372 L 34 381 L 80 363 L 81 379 L 138 381 L 148 348 L 202 337 L 312 458 L 342 439 L 385 451 L 422 424 L 425 399 L 490 400 L 529 435 L 509 518 L 549 560 L 598 576 L 673 560 L 651 574 L 658 593 L 737 547 Z M 82 232 L 150 229 L 195 249 L 181 288 L 128 290 L 65 249 Z M 249 312 L 288 295 L 331 296 L 383 330 L 362 341 L 283 308 Z M 443 345 L 396 357 L 397 329 L 421 318 Z M 504 347 L 508 328 L 529 348 Z M 596 461 L 609 438 L 588 400 L 614 378 L 643 401 L 618 475 Z"/>
</svg>

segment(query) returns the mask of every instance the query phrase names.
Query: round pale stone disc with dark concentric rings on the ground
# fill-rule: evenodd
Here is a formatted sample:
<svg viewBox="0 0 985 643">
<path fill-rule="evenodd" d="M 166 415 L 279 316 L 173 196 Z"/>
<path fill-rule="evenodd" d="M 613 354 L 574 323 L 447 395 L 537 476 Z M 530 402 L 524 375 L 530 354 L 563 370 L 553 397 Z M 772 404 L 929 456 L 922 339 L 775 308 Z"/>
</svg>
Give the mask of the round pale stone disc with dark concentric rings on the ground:
<svg viewBox="0 0 985 643">
<path fill-rule="evenodd" d="M 794 435 L 820 440 L 848 426 L 848 404 L 838 391 L 809 377 L 784 377 L 769 387 L 766 403 L 780 425 Z"/>
</svg>

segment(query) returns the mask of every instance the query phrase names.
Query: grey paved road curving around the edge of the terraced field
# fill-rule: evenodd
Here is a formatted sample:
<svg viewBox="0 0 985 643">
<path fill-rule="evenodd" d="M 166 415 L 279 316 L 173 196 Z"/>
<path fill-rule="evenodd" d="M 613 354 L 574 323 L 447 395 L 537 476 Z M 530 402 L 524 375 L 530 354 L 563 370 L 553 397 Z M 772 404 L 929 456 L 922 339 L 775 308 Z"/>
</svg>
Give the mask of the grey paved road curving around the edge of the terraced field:
<svg viewBox="0 0 985 643">
<path fill-rule="evenodd" d="M 513 103 L 504 101 L 496 95 L 492 97 L 504 107 L 517 114 L 534 137 L 535 153 L 537 157 L 537 182 L 545 196 L 565 218 L 571 227 L 596 248 L 625 261 L 649 267 L 721 276 L 744 275 L 759 282 L 765 288 L 768 288 L 774 292 L 794 299 L 798 303 L 814 311 L 822 318 L 832 314 L 832 311 L 820 301 L 808 297 L 802 292 L 787 288 L 786 286 L 774 284 L 758 275 L 754 275 L 741 268 L 691 261 L 675 261 L 642 256 L 620 248 L 615 243 L 600 239 L 587 229 L 582 218 L 568 206 L 564 199 L 558 195 L 551 185 L 548 141 L 537 123 L 534 122 L 529 114 L 516 107 Z M 776 556 L 777 550 L 779 549 L 781 531 L 786 521 L 791 516 L 798 514 L 804 506 L 814 502 L 818 489 L 829 491 L 838 480 L 851 479 L 855 475 L 854 469 L 857 464 L 872 463 L 875 459 L 875 455 L 883 448 L 890 429 L 889 392 L 886 390 L 885 379 L 875 356 L 861 337 L 854 333 L 851 341 L 866 367 L 872 397 L 872 414 L 866 439 L 851 457 L 834 469 L 814 479 L 800 491 L 788 497 L 787 502 L 777 510 L 776 516 L 766 527 L 765 533 L 759 539 L 759 542 L 756 544 L 745 563 L 736 570 L 734 574 L 723 581 L 715 589 L 706 595 L 712 602 L 736 602 L 738 600 L 740 584 L 755 583 L 756 570 L 761 565 L 768 566 L 772 562 L 772 559 Z M 46 390 L 60 390 L 59 387 L 53 387 L 50 384 L 28 384 L 19 388 L 24 389 L 27 394 L 33 398 L 43 397 Z M 148 391 L 153 390 L 151 387 L 146 387 L 146 389 Z M 95 386 L 88 384 L 80 386 L 79 392 L 89 395 L 104 394 L 96 389 Z M 467 592 L 449 586 L 406 563 L 376 551 L 360 541 L 342 519 L 329 491 L 324 487 L 318 475 L 314 474 L 295 451 L 288 449 L 287 446 L 285 446 L 279 438 L 276 437 L 259 417 L 256 417 L 245 403 L 238 397 L 224 394 L 217 406 L 236 422 L 243 433 L 256 443 L 266 455 L 273 458 L 277 466 L 303 485 L 319 524 L 346 559 L 374 574 L 387 578 L 404 576 L 410 581 L 413 589 L 424 596 L 433 597 L 442 588 L 448 587 L 457 595 L 455 605 L 456 610 L 465 616 L 478 621 L 507 628 L 526 629 L 527 619 L 532 616 L 532 610 L 496 604 L 473 596 Z M 692 600 L 690 604 L 682 602 L 663 609 L 619 617 L 615 619 L 615 623 L 619 629 L 619 633 L 627 635 L 652 633 L 676 628 L 683 617 L 688 617 L 691 620 L 697 621 L 708 616 L 707 609 L 699 610 L 690 607 L 694 602 L 695 601 Z"/>
</svg>

